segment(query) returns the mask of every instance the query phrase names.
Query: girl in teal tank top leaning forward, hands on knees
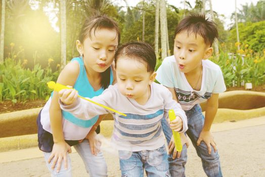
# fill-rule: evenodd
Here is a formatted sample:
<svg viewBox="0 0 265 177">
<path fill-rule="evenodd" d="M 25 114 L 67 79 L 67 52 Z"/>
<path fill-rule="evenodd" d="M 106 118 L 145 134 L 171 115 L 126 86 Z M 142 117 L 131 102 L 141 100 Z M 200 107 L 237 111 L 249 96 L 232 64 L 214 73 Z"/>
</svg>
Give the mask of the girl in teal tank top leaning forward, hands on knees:
<svg viewBox="0 0 265 177">
<path fill-rule="evenodd" d="M 81 57 L 69 62 L 59 74 L 58 83 L 72 86 L 82 97 L 102 94 L 115 82 L 112 70 L 114 55 L 120 41 L 118 24 L 107 16 L 93 16 L 84 21 L 76 48 Z M 71 146 L 82 158 L 90 176 L 107 176 L 107 164 L 100 152 L 96 125 L 103 116 L 81 120 L 62 111 L 58 92 L 40 111 L 37 118 L 38 146 L 43 151 L 52 176 L 72 176 Z"/>
</svg>

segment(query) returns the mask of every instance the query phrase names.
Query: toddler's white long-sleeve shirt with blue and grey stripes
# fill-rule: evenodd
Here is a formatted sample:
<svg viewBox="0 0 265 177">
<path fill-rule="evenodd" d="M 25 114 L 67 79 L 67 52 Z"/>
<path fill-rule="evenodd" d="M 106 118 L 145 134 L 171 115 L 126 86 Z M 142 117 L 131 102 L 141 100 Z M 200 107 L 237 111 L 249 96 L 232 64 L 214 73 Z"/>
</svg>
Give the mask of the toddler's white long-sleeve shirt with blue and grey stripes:
<svg viewBox="0 0 265 177">
<path fill-rule="evenodd" d="M 123 96 L 117 84 L 110 85 L 100 96 L 91 100 L 118 110 L 122 116 L 89 101 L 78 98 L 72 105 L 61 105 L 61 109 L 69 111 L 80 119 L 90 119 L 95 115 L 111 113 L 114 118 L 112 140 L 119 150 L 142 151 L 155 150 L 164 145 L 161 119 L 168 117 L 173 109 L 175 115 L 183 121 L 182 132 L 188 129 L 187 117 L 180 104 L 172 99 L 168 89 L 157 83 L 151 84 L 151 96 L 145 105 L 138 104 L 134 99 Z"/>
</svg>

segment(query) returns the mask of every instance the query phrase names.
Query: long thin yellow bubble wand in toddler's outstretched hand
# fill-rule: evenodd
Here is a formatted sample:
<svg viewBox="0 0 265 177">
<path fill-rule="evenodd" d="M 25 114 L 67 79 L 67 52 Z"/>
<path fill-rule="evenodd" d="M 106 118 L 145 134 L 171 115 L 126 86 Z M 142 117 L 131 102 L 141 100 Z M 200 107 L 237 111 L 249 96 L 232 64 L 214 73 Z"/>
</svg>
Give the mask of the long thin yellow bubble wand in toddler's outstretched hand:
<svg viewBox="0 0 265 177">
<path fill-rule="evenodd" d="M 65 85 L 63 85 L 63 84 L 55 83 L 54 81 L 50 81 L 50 82 L 48 82 L 47 84 L 48 84 L 48 87 L 49 87 L 50 89 L 53 89 L 54 91 L 57 91 L 57 92 L 61 91 L 62 89 L 72 89 L 72 88 L 70 88 L 70 87 L 68 87 L 68 86 L 65 86 Z M 91 102 L 91 103 L 94 103 L 94 104 L 96 104 L 96 105 L 98 105 L 98 106 L 101 106 L 101 107 L 103 107 L 103 108 L 105 108 L 105 109 L 108 109 L 108 110 L 110 110 L 110 111 L 116 112 L 116 113 L 118 113 L 118 114 L 120 114 L 120 115 L 127 116 L 126 114 L 123 114 L 123 113 L 121 113 L 121 112 L 119 112 L 119 111 L 117 111 L 117 110 L 115 110 L 115 109 L 109 108 L 109 107 L 104 106 L 104 105 L 102 105 L 102 104 L 100 104 L 100 103 L 94 102 L 94 101 L 92 101 L 92 100 L 90 100 L 90 99 L 87 99 L 87 98 L 81 97 L 80 95 L 78 95 L 77 97 L 79 97 L 79 98 L 81 98 L 81 99 L 84 99 L 84 100 L 86 100 L 86 101 L 89 101 L 89 102 Z"/>
</svg>

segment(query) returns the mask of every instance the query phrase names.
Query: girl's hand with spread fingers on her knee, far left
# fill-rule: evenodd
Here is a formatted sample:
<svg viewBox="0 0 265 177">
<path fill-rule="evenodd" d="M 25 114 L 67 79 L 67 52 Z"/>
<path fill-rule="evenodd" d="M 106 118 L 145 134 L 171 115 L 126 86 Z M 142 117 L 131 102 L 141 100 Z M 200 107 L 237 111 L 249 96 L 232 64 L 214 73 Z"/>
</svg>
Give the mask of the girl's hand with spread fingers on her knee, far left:
<svg viewBox="0 0 265 177">
<path fill-rule="evenodd" d="M 55 143 L 53 146 L 53 151 L 48 159 L 48 163 L 51 163 L 52 159 L 52 169 L 55 168 L 57 163 L 57 172 L 61 169 L 62 160 L 64 161 L 64 168 L 67 169 L 67 153 L 71 153 L 71 147 L 66 142 Z"/>
</svg>

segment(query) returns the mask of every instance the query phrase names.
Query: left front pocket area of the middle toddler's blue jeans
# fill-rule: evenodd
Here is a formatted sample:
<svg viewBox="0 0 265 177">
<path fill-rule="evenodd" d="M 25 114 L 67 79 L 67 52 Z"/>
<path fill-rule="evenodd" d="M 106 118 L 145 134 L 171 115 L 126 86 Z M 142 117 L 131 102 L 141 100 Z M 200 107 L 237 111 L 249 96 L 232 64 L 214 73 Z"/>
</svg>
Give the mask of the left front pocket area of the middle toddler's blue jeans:
<svg viewBox="0 0 265 177">
<path fill-rule="evenodd" d="M 119 151 L 119 156 L 123 151 Z M 137 157 L 134 152 L 132 152 L 131 156 L 128 159 L 120 158 L 120 170 L 128 171 L 132 170 L 137 166 Z"/>
</svg>

